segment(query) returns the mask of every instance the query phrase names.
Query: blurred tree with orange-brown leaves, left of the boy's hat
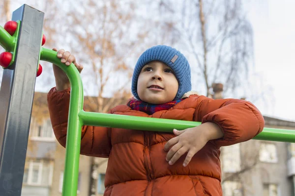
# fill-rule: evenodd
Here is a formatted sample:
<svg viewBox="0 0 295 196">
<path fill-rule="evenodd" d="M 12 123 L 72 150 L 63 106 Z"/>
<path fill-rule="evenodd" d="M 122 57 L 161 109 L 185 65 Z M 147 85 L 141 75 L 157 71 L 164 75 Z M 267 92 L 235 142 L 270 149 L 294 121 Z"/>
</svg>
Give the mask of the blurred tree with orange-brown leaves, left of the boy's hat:
<svg viewBox="0 0 295 196">
<path fill-rule="evenodd" d="M 72 53 L 84 65 L 85 97 L 95 112 L 108 112 L 131 97 L 134 65 L 148 28 L 138 23 L 138 3 L 131 0 L 77 0 L 67 20 L 64 37 L 70 39 Z M 65 40 L 67 41 L 67 40 Z M 87 75 L 87 77 L 85 77 Z M 105 98 L 105 97 L 112 98 Z M 92 160 L 92 172 L 99 167 Z M 92 175 L 95 176 L 95 175 Z M 89 195 L 96 194 L 97 179 L 91 179 Z"/>
</svg>

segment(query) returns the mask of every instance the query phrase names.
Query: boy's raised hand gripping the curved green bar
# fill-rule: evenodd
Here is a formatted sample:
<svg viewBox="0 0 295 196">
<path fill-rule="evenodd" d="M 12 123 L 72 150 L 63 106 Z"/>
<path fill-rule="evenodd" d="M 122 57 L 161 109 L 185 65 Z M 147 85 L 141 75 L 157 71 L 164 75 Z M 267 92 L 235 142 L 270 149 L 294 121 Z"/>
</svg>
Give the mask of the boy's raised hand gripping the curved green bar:
<svg viewBox="0 0 295 196">
<path fill-rule="evenodd" d="M 54 48 L 53 50 L 58 51 L 58 49 L 56 48 Z M 71 63 L 73 63 L 78 69 L 79 73 L 82 72 L 83 65 L 80 65 L 79 63 L 77 63 L 75 56 L 72 55 L 69 51 L 64 51 L 64 49 L 59 49 L 58 58 L 60 58 L 61 59 L 60 62 L 64 63 L 66 66 L 69 66 Z M 67 75 L 55 64 L 53 64 L 53 73 L 56 80 L 57 91 L 62 91 L 71 86 Z"/>
</svg>

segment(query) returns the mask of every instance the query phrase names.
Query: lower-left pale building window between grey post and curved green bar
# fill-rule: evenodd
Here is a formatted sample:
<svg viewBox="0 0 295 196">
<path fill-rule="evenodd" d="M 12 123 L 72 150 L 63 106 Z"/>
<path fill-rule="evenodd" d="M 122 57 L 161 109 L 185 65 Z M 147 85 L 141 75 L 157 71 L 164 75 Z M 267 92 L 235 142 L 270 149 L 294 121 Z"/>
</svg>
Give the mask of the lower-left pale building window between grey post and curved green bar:
<svg viewBox="0 0 295 196">
<path fill-rule="evenodd" d="M 25 185 L 51 186 L 53 162 L 29 160 L 25 165 L 23 183 Z"/>
</svg>

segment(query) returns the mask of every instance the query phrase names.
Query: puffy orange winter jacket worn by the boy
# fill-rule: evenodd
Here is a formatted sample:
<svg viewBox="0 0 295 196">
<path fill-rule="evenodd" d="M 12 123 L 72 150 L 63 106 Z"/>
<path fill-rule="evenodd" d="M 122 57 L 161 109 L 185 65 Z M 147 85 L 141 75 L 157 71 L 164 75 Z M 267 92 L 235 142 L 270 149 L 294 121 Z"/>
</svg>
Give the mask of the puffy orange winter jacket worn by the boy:
<svg viewBox="0 0 295 196">
<path fill-rule="evenodd" d="M 48 94 L 55 136 L 65 147 L 70 90 Z M 191 95 L 169 110 L 148 115 L 118 105 L 111 114 L 148 118 L 214 122 L 224 137 L 212 140 L 183 167 L 183 155 L 170 166 L 164 145 L 173 133 L 83 126 L 81 154 L 108 157 L 104 196 L 222 196 L 220 147 L 252 139 L 263 130 L 264 119 L 250 102 Z"/>
</svg>

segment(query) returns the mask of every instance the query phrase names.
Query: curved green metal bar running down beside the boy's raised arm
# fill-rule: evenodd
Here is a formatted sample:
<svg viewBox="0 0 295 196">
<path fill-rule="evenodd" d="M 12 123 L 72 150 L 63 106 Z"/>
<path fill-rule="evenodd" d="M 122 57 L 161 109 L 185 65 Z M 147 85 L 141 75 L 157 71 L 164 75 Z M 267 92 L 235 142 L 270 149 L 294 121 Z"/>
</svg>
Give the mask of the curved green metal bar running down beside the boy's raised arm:
<svg viewBox="0 0 295 196">
<path fill-rule="evenodd" d="M 57 57 L 57 52 L 50 49 L 41 49 L 40 60 L 45 60 L 59 66 L 68 76 L 71 84 L 70 108 L 68 117 L 65 167 L 63 174 L 62 196 L 76 196 L 79 174 L 79 156 L 81 145 L 82 122 L 78 112 L 83 110 L 83 86 L 77 68 L 65 66 Z"/>
</svg>

